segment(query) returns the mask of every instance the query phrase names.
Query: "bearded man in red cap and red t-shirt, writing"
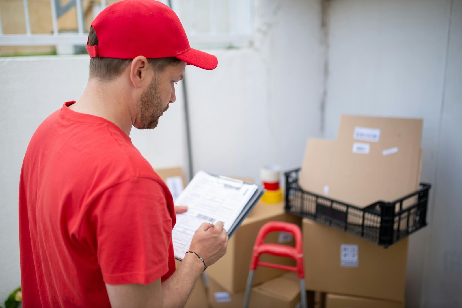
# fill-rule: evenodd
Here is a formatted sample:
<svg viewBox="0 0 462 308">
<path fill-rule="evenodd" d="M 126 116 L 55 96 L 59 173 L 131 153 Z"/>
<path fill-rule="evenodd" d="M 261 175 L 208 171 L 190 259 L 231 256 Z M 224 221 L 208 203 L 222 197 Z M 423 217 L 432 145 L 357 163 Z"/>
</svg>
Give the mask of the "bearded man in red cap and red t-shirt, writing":
<svg viewBox="0 0 462 308">
<path fill-rule="evenodd" d="M 228 236 L 222 223 L 201 225 L 175 270 L 171 194 L 129 134 L 157 126 L 186 64 L 213 69 L 217 59 L 191 49 L 176 14 L 154 0 L 108 6 L 87 49 L 84 94 L 43 121 L 24 157 L 23 306 L 182 307 Z"/>
</svg>

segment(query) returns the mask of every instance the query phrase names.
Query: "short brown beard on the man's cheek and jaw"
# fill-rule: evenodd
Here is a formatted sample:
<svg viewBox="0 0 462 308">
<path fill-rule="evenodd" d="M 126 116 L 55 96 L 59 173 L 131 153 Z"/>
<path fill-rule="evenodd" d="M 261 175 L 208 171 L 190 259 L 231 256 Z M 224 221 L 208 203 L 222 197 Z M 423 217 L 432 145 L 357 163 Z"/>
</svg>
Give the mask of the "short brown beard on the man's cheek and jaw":
<svg viewBox="0 0 462 308">
<path fill-rule="evenodd" d="M 152 130 L 159 124 L 159 118 L 163 112 L 167 111 L 169 105 L 164 109 L 162 107 L 162 97 L 158 91 L 158 77 L 152 79 L 148 89 L 141 95 L 141 118 L 140 130 Z"/>
</svg>

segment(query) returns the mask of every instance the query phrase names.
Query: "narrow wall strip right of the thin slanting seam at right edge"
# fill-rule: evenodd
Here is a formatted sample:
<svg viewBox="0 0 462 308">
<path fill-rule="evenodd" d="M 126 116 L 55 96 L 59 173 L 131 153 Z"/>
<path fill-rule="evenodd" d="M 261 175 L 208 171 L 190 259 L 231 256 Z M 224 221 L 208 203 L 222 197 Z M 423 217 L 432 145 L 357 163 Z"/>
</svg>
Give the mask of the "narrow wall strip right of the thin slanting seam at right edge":
<svg viewBox="0 0 462 308">
<path fill-rule="evenodd" d="M 422 307 L 462 307 L 462 0 L 452 6 Z"/>
</svg>

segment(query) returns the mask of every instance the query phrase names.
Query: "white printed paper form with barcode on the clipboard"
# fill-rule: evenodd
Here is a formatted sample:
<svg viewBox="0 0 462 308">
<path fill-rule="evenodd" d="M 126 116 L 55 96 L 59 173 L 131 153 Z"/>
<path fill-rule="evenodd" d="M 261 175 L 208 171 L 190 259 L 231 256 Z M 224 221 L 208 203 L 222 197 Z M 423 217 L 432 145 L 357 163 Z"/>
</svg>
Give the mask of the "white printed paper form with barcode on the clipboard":
<svg viewBox="0 0 462 308">
<path fill-rule="evenodd" d="M 188 206 L 188 211 L 176 215 L 172 231 L 175 257 L 183 259 L 195 231 L 204 222 L 223 222 L 229 231 L 239 214 L 254 195 L 258 186 L 218 178 L 199 171 L 183 190 L 176 204 Z"/>
</svg>

